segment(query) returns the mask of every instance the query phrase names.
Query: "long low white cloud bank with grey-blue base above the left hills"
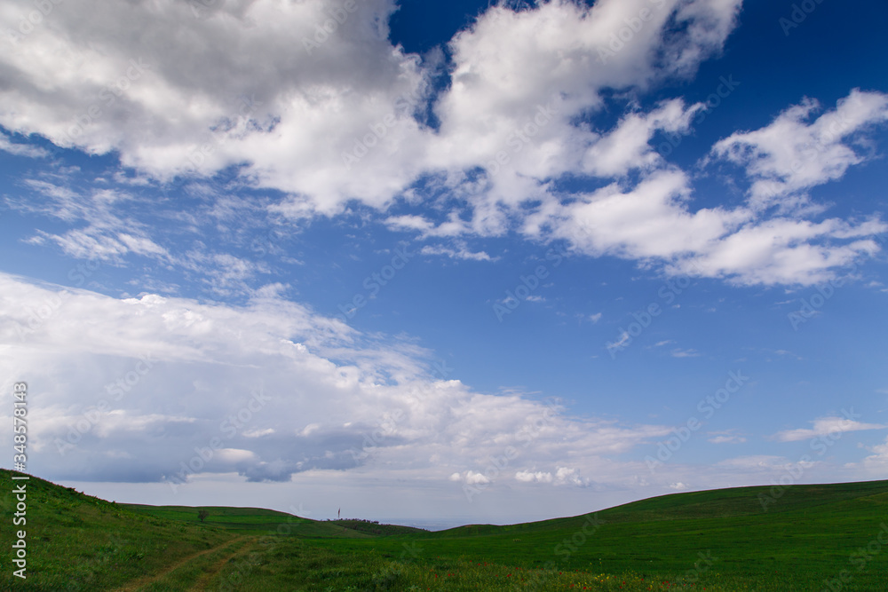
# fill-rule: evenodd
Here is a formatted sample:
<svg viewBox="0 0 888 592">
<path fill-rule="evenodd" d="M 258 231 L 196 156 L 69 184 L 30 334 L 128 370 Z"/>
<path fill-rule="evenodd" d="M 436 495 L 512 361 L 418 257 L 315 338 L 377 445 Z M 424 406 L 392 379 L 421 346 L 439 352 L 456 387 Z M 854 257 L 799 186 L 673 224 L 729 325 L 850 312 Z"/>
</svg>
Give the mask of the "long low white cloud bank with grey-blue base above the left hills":
<svg viewBox="0 0 888 592">
<path fill-rule="evenodd" d="M 496 485 L 491 459 L 505 454 L 516 468 L 554 466 L 555 485 L 585 486 L 608 455 L 669 430 L 436 379 L 415 344 L 376 341 L 275 290 L 235 307 L 0 275 L 0 295 L 0 366 L 35 377 L 33 464 L 52 478 L 178 487 L 201 474 L 288 481 L 373 466 Z"/>
</svg>

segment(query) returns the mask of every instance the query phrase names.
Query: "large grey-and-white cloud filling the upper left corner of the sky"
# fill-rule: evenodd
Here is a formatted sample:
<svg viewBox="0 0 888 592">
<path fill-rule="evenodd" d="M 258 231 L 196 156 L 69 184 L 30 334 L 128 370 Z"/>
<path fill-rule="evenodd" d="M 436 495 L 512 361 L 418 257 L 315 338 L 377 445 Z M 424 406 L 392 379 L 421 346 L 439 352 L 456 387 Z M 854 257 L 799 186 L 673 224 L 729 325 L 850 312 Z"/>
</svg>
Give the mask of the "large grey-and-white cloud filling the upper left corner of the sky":
<svg viewBox="0 0 888 592">
<path fill-rule="evenodd" d="M 387 41 L 390 0 L 355 4 L 313 51 L 301 40 L 339 3 L 228 2 L 196 16 L 192 4 L 55 4 L 27 35 L 2 36 L 0 123 L 92 154 L 119 150 L 159 178 L 248 162 L 261 185 L 308 195 L 319 211 L 351 198 L 381 205 L 415 176 L 390 153 L 417 143 L 404 101 L 422 95 L 424 72 Z M 31 10 L 4 3 L 0 18 Z M 343 152 L 389 116 L 362 162 L 373 176 L 345 174 Z"/>
</svg>

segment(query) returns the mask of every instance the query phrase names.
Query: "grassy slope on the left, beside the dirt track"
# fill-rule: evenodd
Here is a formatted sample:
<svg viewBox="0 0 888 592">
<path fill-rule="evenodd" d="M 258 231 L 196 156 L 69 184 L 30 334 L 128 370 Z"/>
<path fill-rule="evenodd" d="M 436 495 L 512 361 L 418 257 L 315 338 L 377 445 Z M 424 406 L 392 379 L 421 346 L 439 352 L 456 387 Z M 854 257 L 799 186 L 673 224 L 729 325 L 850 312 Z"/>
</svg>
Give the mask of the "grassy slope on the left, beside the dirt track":
<svg viewBox="0 0 888 592">
<path fill-rule="evenodd" d="M 223 549 L 239 537 L 281 532 L 299 538 L 369 537 L 342 525 L 256 508 L 197 508 L 113 503 L 31 476 L 27 483 L 27 525 L 12 526 L 12 475 L 0 469 L 3 528 L 0 547 L 12 549 L 16 530 L 28 533 L 28 580 L 12 576 L 10 554 L 0 560 L 0 590 L 79 592 L 123 588 L 146 574 L 163 572 L 170 559 Z M 19 482 L 21 483 L 21 482 Z M 289 530 L 288 530 L 289 529 Z M 212 557 L 206 557 L 210 560 Z M 190 589 L 190 588 L 168 588 Z M 212 589 L 212 588 L 209 588 Z"/>
</svg>

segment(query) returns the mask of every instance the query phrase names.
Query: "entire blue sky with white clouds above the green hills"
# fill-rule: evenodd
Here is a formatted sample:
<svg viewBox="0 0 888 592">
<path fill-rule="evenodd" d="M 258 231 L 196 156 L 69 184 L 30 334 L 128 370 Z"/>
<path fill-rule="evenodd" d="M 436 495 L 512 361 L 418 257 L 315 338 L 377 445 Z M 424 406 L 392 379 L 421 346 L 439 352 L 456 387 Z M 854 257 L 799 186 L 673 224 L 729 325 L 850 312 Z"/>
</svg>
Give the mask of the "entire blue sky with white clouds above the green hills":
<svg viewBox="0 0 888 592">
<path fill-rule="evenodd" d="M 0 4 L 28 470 L 436 525 L 884 478 L 885 6 L 83 10 Z"/>
</svg>

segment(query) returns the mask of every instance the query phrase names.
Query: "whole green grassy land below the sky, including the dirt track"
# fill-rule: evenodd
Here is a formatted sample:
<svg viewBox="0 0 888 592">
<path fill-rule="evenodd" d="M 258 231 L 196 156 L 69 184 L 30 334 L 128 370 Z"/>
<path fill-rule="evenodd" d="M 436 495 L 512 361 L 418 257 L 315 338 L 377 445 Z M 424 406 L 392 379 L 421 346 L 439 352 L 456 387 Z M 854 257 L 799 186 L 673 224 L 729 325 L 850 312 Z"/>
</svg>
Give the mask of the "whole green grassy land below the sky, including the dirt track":
<svg viewBox="0 0 888 592">
<path fill-rule="evenodd" d="M 676 493 L 431 533 L 256 508 L 200 508 L 201 522 L 198 508 L 32 477 L 21 580 L 13 474 L 0 470 L 3 590 L 888 590 L 888 481 Z"/>
</svg>

